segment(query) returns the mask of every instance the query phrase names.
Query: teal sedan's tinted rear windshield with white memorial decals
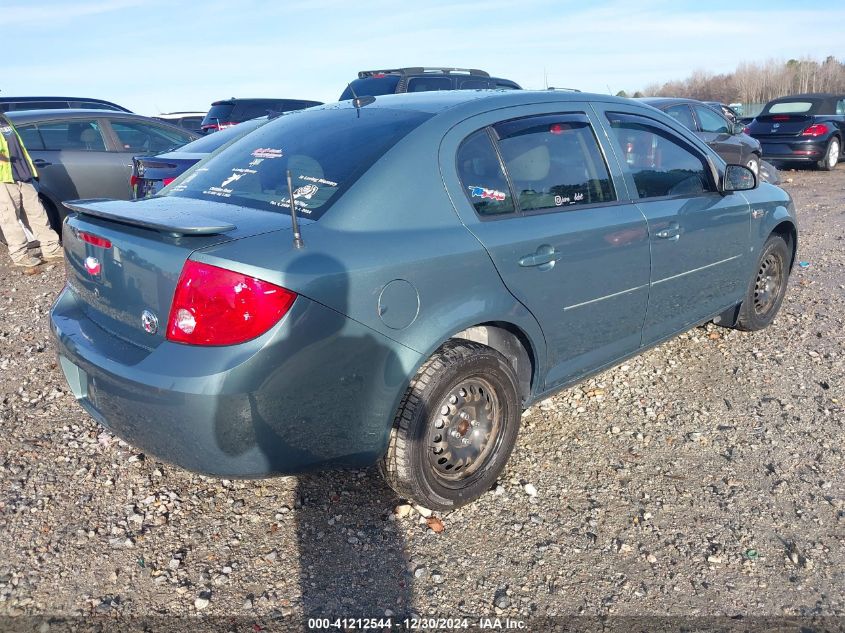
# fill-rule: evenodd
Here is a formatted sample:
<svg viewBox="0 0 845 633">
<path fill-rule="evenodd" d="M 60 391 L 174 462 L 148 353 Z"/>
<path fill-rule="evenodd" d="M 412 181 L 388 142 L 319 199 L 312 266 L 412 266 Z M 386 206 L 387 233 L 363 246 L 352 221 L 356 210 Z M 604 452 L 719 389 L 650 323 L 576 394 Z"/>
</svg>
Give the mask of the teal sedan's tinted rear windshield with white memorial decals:
<svg viewBox="0 0 845 633">
<path fill-rule="evenodd" d="M 431 116 L 386 108 L 291 112 L 197 165 L 166 195 L 289 213 L 290 170 L 298 212 L 316 220 L 388 149 Z"/>
</svg>

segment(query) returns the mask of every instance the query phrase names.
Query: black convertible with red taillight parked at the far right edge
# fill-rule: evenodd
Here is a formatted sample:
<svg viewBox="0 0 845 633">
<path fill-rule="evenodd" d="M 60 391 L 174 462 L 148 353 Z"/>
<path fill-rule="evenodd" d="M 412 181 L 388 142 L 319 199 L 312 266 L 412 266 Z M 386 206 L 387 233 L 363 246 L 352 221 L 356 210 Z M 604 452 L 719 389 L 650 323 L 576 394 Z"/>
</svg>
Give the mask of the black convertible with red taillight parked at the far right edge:
<svg viewBox="0 0 845 633">
<path fill-rule="evenodd" d="M 830 171 L 842 158 L 845 94 L 800 94 L 766 104 L 748 124 L 769 161 L 814 164 Z"/>
</svg>

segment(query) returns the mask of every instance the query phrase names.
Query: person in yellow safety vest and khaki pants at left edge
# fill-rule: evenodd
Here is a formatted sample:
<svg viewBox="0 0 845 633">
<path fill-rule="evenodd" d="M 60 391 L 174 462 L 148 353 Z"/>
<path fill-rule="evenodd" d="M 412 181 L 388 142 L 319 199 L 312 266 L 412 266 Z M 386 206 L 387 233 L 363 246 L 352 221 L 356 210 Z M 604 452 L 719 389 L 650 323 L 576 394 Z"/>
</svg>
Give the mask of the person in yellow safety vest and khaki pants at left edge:
<svg viewBox="0 0 845 633">
<path fill-rule="evenodd" d="M 34 182 L 38 172 L 15 126 L 0 114 L 0 230 L 15 266 L 33 268 L 44 261 L 64 257 L 59 236 L 50 228 L 44 205 Z M 29 240 L 21 226 L 26 220 L 41 244 L 41 257 L 29 253 Z"/>
</svg>

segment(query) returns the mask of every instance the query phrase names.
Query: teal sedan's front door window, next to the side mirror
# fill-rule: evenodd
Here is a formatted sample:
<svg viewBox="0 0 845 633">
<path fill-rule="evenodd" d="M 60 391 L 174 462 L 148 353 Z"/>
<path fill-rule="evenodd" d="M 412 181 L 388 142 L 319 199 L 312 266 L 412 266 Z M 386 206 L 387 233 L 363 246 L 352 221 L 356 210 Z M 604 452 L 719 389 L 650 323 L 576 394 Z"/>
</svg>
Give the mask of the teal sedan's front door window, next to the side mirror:
<svg viewBox="0 0 845 633">
<path fill-rule="evenodd" d="M 616 143 L 640 198 L 695 196 L 716 191 L 703 156 L 649 119 L 608 112 Z"/>
</svg>

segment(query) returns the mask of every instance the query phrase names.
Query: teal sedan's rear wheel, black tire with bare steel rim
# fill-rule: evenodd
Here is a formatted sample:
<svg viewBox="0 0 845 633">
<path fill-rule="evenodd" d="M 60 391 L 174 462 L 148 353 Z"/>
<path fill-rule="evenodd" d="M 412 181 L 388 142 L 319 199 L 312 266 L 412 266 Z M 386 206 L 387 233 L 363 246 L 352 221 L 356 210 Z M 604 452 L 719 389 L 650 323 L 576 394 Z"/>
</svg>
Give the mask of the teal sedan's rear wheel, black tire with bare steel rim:
<svg viewBox="0 0 845 633">
<path fill-rule="evenodd" d="M 432 510 L 452 510 L 489 490 L 519 432 L 517 385 L 496 350 L 463 339 L 445 343 L 417 372 L 396 412 L 381 462 L 390 487 Z"/>
</svg>

